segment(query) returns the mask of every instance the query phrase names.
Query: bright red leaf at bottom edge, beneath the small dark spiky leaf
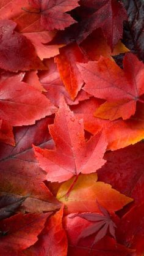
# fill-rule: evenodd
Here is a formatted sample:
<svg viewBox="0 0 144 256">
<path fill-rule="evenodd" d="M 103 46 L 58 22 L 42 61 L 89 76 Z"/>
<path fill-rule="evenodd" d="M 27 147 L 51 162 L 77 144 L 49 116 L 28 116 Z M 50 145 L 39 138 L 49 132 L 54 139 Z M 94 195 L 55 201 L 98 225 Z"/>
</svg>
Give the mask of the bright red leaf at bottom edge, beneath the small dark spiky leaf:
<svg viewBox="0 0 144 256">
<path fill-rule="evenodd" d="M 63 225 L 68 236 L 68 256 L 130 256 L 135 250 L 129 249 L 126 246 L 118 244 L 115 239 L 110 236 L 105 236 L 98 243 L 92 247 L 95 235 L 81 238 L 77 243 L 77 236 L 81 235 L 81 232 L 90 227 L 88 220 L 81 217 L 74 217 L 73 214 L 69 214 L 63 218 Z"/>
</svg>

